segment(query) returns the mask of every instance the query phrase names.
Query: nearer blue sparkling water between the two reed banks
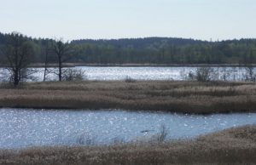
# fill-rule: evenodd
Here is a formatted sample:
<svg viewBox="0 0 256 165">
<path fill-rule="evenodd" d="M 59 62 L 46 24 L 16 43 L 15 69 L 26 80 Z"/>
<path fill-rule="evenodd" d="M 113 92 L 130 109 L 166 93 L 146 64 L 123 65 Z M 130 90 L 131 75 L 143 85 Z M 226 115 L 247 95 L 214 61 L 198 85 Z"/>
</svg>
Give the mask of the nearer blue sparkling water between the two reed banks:
<svg viewBox="0 0 256 165">
<path fill-rule="evenodd" d="M 149 111 L 0 109 L 0 148 L 42 145 L 103 145 L 150 139 L 167 129 L 167 139 L 256 124 L 256 113 L 186 115 Z"/>
</svg>

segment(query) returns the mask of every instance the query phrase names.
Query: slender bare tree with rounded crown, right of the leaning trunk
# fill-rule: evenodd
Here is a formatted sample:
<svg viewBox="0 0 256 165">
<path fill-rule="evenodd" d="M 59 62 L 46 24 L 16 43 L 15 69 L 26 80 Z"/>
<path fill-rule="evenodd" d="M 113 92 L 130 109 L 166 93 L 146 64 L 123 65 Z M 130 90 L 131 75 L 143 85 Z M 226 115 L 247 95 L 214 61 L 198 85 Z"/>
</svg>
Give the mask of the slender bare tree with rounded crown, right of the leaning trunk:
<svg viewBox="0 0 256 165">
<path fill-rule="evenodd" d="M 59 39 L 53 46 L 53 52 L 57 55 L 58 72 L 56 74 L 61 82 L 63 77 L 63 62 L 67 61 L 68 56 L 70 56 L 70 45 Z"/>
</svg>

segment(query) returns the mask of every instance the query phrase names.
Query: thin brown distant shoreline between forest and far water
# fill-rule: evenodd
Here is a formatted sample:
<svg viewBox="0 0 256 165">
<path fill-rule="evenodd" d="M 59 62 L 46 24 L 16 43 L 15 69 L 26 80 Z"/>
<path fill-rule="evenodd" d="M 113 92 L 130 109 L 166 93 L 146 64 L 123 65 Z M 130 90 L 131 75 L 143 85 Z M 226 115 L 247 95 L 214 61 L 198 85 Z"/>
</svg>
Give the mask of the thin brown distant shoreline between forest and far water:
<svg viewBox="0 0 256 165">
<path fill-rule="evenodd" d="M 86 63 L 64 63 L 64 67 L 78 67 L 78 66 L 91 66 L 91 67 L 245 67 L 245 64 L 86 64 Z M 256 67 L 256 64 L 250 64 Z M 6 65 L 0 65 L 6 67 Z M 29 67 L 44 67 L 44 63 L 34 63 Z M 49 64 L 47 67 L 58 67 L 58 64 Z"/>
</svg>

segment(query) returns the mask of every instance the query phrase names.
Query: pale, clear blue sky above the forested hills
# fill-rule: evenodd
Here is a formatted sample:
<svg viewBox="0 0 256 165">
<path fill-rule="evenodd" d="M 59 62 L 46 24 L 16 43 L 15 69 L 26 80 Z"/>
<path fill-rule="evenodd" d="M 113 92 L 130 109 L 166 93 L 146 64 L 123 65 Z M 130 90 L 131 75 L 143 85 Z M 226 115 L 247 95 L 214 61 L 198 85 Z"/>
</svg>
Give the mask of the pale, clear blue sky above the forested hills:
<svg viewBox="0 0 256 165">
<path fill-rule="evenodd" d="M 0 31 L 65 40 L 256 38 L 256 1 L 0 0 Z"/>
</svg>

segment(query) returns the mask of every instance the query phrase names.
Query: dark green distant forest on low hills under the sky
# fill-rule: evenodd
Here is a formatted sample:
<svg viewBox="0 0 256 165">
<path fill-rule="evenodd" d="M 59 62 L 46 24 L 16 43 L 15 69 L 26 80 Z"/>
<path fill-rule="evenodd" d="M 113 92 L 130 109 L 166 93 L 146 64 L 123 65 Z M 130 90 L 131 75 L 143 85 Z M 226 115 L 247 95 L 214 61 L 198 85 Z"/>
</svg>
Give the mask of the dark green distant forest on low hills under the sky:
<svg viewBox="0 0 256 165">
<path fill-rule="evenodd" d="M 0 33 L 0 48 L 8 45 L 10 34 Z M 47 38 L 26 37 L 32 43 L 33 63 L 56 63 Z M 73 40 L 68 43 L 68 63 L 84 64 L 256 64 L 256 39 L 207 42 L 172 37 L 111 40 Z M 46 53 L 47 52 L 47 53 Z M 0 52 L 0 59 L 4 59 Z"/>
</svg>

